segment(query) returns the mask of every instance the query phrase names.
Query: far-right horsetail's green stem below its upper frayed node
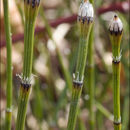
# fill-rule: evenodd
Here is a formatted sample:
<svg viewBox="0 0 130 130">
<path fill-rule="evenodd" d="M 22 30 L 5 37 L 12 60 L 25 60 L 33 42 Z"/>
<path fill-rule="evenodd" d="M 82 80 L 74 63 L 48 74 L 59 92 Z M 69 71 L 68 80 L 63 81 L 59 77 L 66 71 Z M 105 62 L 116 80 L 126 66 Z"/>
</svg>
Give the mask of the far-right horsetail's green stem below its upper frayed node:
<svg viewBox="0 0 130 130">
<path fill-rule="evenodd" d="M 121 130 L 120 116 L 120 62 L 112 62 L 114 87 L 114 130 Z M 119 122 L 119 123 L 118 123 Z"/>
</svg>

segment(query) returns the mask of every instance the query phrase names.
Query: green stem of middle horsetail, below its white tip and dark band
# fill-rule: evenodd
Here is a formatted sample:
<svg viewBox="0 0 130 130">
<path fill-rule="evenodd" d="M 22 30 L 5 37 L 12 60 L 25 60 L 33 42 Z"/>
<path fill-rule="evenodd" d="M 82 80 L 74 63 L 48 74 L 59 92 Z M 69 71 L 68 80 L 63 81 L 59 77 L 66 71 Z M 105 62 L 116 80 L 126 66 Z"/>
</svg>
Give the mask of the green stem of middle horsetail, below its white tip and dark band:
<svg viewBox="0 0 130 130">
<path fill-rule="evenodd" d="M 89 26 L 86 24 L 81 25 L 83 30 L 85 30 L 86 26 Z M 69 119 L 68 119 L 68 126 L 67 126 L 68 130 L 75 129 L 75 124 L 77 119 L 78 101 L 82 92 L 82 84 L 83 84 L 83 77 L 84 77 L 84 70 L 85 70 L 87 49 L 88 49 L 88 37 L 89 37 L 91 25 L 90 27 L 87 27 L 87 29 L 88 29 L 87 30 L 88 32 L 86 32 L 87 35 L 83 34 L 80 37 L 78 59 L 77 59 L 75 77 L 74 77 L 74 80 L 76 82 L 73 81 L 74 83 L 72 88 L 72 101 L 70 105 L 70 112 L 69 112 Z"/>
</svg>

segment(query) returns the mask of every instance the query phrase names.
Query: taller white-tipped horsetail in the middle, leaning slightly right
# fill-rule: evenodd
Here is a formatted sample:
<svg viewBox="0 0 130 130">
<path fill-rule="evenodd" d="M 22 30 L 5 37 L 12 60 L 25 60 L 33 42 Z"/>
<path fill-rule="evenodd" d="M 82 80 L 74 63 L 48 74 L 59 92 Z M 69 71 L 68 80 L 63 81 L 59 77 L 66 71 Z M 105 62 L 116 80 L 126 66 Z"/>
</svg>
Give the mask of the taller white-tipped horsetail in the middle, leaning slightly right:
<svg viewBox="0 0 130 130">
<path fill-rule="evenodd" d="M 76 64 L 75 74 L 73 74 L 73 87 L 72 87 L 72 99 L 69 111 L 68 119 L 68 130 L 74 130 L 77 111 L 78 111 L 78 101 L 82 92 L 84 70 L 86 65 L 87 49 L 88 49 L 88 38 L 93 24 L 93 6 L 89 1 L 84 0 L 78 12 L 78 25 L 80 28 L 80 42 L 78 48 L 78 59 Z"/>
</svg>

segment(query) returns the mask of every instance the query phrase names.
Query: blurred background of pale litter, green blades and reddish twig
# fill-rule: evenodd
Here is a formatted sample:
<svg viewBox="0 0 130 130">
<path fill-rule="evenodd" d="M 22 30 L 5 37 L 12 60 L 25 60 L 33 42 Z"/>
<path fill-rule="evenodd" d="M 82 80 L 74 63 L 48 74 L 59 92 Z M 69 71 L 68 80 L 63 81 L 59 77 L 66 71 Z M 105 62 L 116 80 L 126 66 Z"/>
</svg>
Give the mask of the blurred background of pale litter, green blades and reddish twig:
<svg viewBox="0 0 130 130">
<path fill-rule="evenodd" d="M 80 0 L 41 0 L 39 14 L 36 19 L 32 92 L 30 95 L 26 130 L 65 130 L 71 100 L 64 71 L 57 55 L 57 48 L 63 65 L 72 77 L 77 59 L 79 30 L 77 26 L 77 12 Z M 104 108 L 113 113 L 112 88 L 112 48 L 108 36 L 109 21 L 115 13 L 124 25 L 121 43 L 121 114 L 122 122 L 128 130 L 129 122 L 129 11 L 130 2 L 125 0 L 95 0 L 94 27 L 94 74 L 95 99 Z M 24 13 L 23 0 L 9 0 L 9 14 L 12 36 L 13 62 L 13 115 L 12 130 L 15 129 L 19 79 L 16 74 L 22 73 L 24 51 Z M 0 11 L 0 126 L 3 130 L 6 108 L 6 41 L 4 31 L 3 1 Z M 47 28 L 46 28 L 47 27 Z M 50 33 L 48 33 L 49 31 Z M 53 38 L 51 38 L 52 34 Z M 87 73 L 87 72 L 86 72 Z M 70 78 L 70 82 L 71 82 Z M 86 86 L 85 86 L 86 87 Z M 87 88 L 83 88 L 80 100 L 80 112 L 76 130 L 89 130 L 89 112 Z M 113 123 L 96 105 L 96 130 L 113 130 Z"/>
</svg>

